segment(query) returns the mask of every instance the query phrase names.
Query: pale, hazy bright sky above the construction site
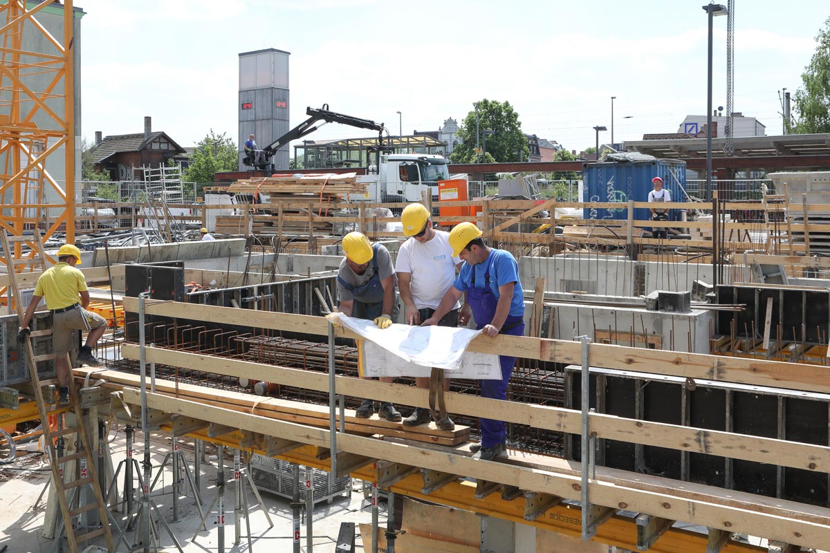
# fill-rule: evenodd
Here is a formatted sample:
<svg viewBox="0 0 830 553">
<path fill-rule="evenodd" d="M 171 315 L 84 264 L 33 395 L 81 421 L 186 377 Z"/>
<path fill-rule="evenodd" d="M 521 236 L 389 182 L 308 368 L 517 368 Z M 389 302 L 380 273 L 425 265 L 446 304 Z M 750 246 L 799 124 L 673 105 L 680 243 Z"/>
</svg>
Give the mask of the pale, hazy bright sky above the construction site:
<svg viewBox="0 0 830 553">
<path fill-rule="evenodd" d="M 509 101 L 522 130 L 583 150 L 674 133 L 706 114 L 702 0 L 76 0 L 82 134 L 140 133 L 144 116 L 183 147 L 238 137 L 238 54 L 291 52 L 291 126 L 307 106 L 392 134 L 459 122 Z M 726 0 L 723 0 L 726 4 Z M 735 0 L 735 111 L 780 134 L 830 17 L 827 0 Z M 714 20 L 713 105 L 726 105 L 726 17 Z M 398 116 L 398 111 L 401 115 Z M 308 139 L 370 136 L 328 124 Z M 264 146 L 265 144 L 260 144 Z"/>
</svg>

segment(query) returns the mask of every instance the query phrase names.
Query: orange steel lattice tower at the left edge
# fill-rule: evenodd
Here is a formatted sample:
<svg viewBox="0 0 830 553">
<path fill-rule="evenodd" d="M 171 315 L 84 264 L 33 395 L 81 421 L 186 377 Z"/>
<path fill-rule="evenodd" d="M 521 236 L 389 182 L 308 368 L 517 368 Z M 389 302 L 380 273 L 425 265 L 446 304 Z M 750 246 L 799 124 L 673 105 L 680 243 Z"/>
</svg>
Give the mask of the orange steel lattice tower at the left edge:
<svg viewBox="0 0 830 553">
<path fill-rule="evenodd" d="M 58 230 L 75 240 L 72 3 L 0 4 L 0 227 L 10 235 L 41 228 L 44 240 Z M 62 18 L 62 32 L 54 32 L 55 17 Z M 46 159 L 60 163 L 61 154 L 63 181 L 46 170 Z M 15 248 L 20 257 L 21 244 Z"/>
</svg>

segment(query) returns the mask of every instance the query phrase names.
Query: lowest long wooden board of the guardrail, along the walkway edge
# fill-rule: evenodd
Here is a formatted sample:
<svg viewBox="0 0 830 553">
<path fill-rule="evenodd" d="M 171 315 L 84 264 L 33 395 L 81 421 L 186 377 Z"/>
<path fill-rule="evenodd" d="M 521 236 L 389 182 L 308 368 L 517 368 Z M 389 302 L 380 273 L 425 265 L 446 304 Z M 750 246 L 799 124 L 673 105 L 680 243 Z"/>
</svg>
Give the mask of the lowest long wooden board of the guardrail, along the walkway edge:
<svg viewBox="0 0 830 553">
<path fill-rule="evenodd" d="M 124 395 L 125 400 L 134 405 L 139 404 L 141 400 L 138 390 L 126 389 Z M 238 425 L 239 428 L 249 429 L 251 432 L 295 439 L 318 447 L 327 447 L 329 444 L 329 431 L 326 429 L 314 429 L 270 420 L 257 415 L 238 413 L 154 393 L 147 394 L 147 402 L 154 409 L 179 415 L 203 417 L 208 420 L 224 420 L 229 424 Z M 452 467 L 453 473 L 466 478 L 484 478 L 492 482 L 505 483 L 533 492 L 559 495 L 571 500 L 579 501 L 580 497 L 579 475 L 564 474 L 556 469 L 540 470 L 481 461 L 457 453 L 383 442 L 352 434 L 338 435 L 338 449 L 397 463 L 407 463 L 408 460 L 417 457 L 418 464 L 427 470 L 441 471 Z M 579 463 L 569 463 L 572 469 L 579 470 L 578 465 Z M 686 483 L 683 485 L 686 486 Z M 824 524 L 818 524 L 754 511 L 753 504 L 736 507 L 735 501 L 730 499 L 730 491 L 718 488 L 712 488 L 715 497 L 720 495 L 720 500 L 729 504 L 686 499 L 672 495 L 672 492 L 676 490 L 666 489 L 665 493 L 644 492 L 635 488 L 613 485 L 603 480 L 599 470 L 597 478 L 591 483 L 591 500 L 596 505 L 625 508 L 656 517 L 676 518 L 678 521 L 691 524 L 745 532 L 798 546 L 822 546 L 830 543 L 830 519 Z M 789 502 L 781 503 L 785 505 Z"/>
</svg>

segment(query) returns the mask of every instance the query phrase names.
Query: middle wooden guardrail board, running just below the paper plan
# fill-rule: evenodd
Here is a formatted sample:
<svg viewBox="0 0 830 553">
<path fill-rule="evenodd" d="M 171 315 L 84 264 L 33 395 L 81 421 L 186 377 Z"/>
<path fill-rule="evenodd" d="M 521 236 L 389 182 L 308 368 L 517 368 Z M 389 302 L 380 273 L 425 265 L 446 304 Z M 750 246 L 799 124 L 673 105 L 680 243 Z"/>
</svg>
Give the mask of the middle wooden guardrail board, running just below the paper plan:
<svg viewBox="0 0 830 553">
<path fill-rule="evenodd" d="M 613 347 L 616 348 L 616 346 Z M 646 352 L 643 348 L 623 349 Z M 121 353 L 127 359 L 134 359 L 138 357 L 139 352 L 138 347 L 125 344 Z M 328 391 L 329 389 L 329 376 L 322 372 L 303 371 L 301 369 L 205 356 L 197 353 L 176 352 L 157 347 L 146 347 L 144 355 L 149 362 L 179 366 L 196 371 L 264 379 L 268 382 L 276 382 L 284 386 L 299 386 L 308 390 Z M 810 368 L 814 371 L 821 369 L 821 367 Z M 107 373 L 96 373 L 96 375 L 100 378 L 106 378 Z M 365 381 L 348 376 L 337 376 L 336 379 L 337 390 L 344 395 L 372 397 L 399 405 L 425 408 L 429 405 L 428 390 L 385 382 Z M 496 420 L 517 424 L 528 424 L 530 421 L 530 424 L 535 428 L 568 432 L 570 434 L 582 432 L 581 413 L 578 410 L 490 400 L 452 392 L 447 392 L 445 399 L 447 400 L 447 409 L 453 413 L 495 418 Z M 265 400 L 265 403 L 268 401 Z M 600 413 L 593 413 L 590 418 L 591 430 L 597 433 L 598 438 L 616 439 L 693 453 L 743 458 L 759 463 L 772 463 L 818 472 L 830 472 L 830 448 L 821 445 L 800 444 L 781 439 L 732 434 L 719 430 L 692 429 L 678 424 L 625 419 Z"/>
</svg>

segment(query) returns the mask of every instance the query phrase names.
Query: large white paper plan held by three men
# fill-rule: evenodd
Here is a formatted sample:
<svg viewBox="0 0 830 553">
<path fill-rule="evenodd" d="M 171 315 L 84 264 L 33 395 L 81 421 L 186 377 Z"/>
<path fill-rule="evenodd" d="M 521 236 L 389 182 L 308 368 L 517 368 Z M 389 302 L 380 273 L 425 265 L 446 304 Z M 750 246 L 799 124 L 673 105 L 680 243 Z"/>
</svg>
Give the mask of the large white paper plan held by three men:
<svg viewBox="0 0 830 553">
<path fill-rule="evenodd" d="M 372 321 L 346 317 L 343 313 L 331 313 L 328 317 L 332 323 L 365 338 L 359 342 L 364 376 L 429 376 L 432 367 L 437 366 L 446 369 L 450 378 L 501 378 L 499 356 L 466 351 L 481 331 L 405 324 L 381 329 Z"/>
</svg>

